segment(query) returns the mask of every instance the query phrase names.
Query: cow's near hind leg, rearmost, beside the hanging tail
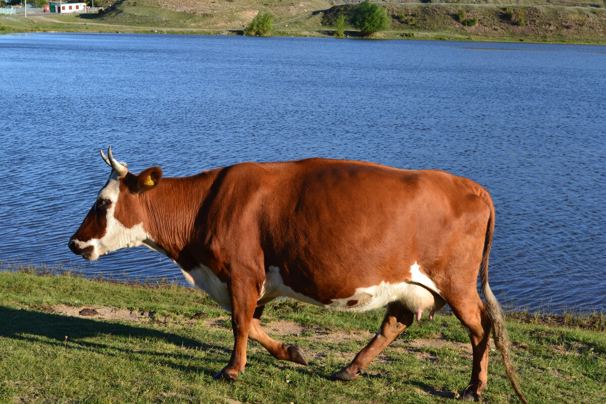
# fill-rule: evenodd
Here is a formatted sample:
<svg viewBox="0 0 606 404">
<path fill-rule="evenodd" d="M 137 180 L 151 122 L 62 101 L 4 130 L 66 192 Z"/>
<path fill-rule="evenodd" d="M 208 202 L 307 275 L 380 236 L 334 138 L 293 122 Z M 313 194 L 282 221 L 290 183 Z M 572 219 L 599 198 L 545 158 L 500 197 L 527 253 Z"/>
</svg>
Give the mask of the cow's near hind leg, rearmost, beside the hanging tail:
<svg viewBox="0 0 606 404">
<path fill-rule="evenodd" d="M 454 315 L 467 328 L 473 351 L 471 380 L 459 397 L 464 401 L 482 399 L 482 389 L 488 381 L 488 338 L 491 322 L 478 292 L 447 298 Z"/>
</svg>

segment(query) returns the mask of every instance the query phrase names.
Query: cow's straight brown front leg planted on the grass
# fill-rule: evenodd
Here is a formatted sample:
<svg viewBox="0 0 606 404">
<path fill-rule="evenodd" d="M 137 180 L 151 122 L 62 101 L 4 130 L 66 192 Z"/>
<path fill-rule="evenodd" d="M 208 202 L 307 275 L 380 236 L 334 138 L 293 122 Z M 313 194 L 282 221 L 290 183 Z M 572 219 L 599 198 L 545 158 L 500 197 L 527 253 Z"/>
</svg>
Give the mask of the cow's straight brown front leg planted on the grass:
<svg viewBox="0 0 606 404">
<path fill-rule="evenodd" d="M 255 306 L 259 299 L 259 291 L 255 283 L 235 280 L 229 285 L 231 300 L 231 328 L 233 329 L 233 351 L 227 366 L 213 378 L 235 382 L 238 374 L 244 373 L 246 365 L 246 345 L 250 323 L 255 313 Z"/>
</svg>

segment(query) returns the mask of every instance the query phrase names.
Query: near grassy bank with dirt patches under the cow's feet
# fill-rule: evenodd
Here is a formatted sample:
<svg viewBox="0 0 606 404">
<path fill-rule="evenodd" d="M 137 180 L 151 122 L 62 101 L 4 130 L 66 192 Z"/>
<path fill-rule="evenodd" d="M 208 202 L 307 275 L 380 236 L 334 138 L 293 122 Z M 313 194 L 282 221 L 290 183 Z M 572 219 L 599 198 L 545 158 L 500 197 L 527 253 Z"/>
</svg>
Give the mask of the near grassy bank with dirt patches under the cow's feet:
<svg viewBox="0 0 606 404">
<path fill-rule="evenodd" d="M 331 382 L 378 328 L 381 311 L 339 313 L 272 302 L 264 326 L 298 343 L 309 366 L 250 343 L 236 383 L 211 376 L 233 339 L 227 313 L 178 286 L 0 273 L 0 402 L 5 403 L 445 403 L 470 374 L 468 337 L 453 316 L 422 319 L 350 383 Z M 530 402 L 606 402 L 602 331 L 508 322 Z M 491 352 L 490 403 L 513 403 Z"/>
</svg>

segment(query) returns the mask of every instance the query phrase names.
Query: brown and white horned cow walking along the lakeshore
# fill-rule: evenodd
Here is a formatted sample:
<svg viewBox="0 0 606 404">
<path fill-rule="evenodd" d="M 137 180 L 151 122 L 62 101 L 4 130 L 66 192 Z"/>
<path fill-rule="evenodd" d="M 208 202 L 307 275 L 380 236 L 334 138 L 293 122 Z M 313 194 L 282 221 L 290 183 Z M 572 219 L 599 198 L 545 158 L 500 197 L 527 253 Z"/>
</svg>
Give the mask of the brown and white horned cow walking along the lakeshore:
<svg viewBox="0 0 606 404">
<path fill-rule="evenodd" d="M 344 311 L 387 306 L 376 336 L 332 375 L 339 380 L 356 379 L 415 317 L 448 303 L 473 348 L 462 398 L 481 398 L 492 329 L 525 402 L 488 286 L 493 202 L 476 182 L 438 170 L 328 159 L 248 162 L 171 178 L 160 167 L 132 174 L 111 148 L 101 155 L 113 170 L 70 249 L 95 260 L 146 245 L 231 311 L 234 348 L 215 379 L 238 379 L 247 338 L 278 359 L 307 365 L 299 346 L 261 328 L 264 305 L 275 297 Z"/>
</svg>

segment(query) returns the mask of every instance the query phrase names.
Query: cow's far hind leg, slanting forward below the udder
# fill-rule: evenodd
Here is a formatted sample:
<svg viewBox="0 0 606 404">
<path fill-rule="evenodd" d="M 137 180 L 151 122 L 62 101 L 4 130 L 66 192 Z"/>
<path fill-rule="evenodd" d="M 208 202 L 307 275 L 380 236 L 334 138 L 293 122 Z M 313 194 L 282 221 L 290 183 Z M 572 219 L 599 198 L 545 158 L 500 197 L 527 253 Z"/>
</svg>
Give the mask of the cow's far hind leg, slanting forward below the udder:
<svg viewBox="0 0 606 404">
<path fill-rule="evenodd" d="M 355 380 L 358 374 L 366 371 L 366 366 L 378 354 L 381 353 L 387 345 L 398 337 L 402 331 L 413 323 L 415 315 L 402 306 L 400 303 L 390 303 L 387 306 L 387 313 L 381 324 L 381 329 L 370 340 L 367 346 L 360 351 L 350 365 L 345 366 L 341 371 L 333 373 L 330 377 L 334 380 Z"/>
</svg>

